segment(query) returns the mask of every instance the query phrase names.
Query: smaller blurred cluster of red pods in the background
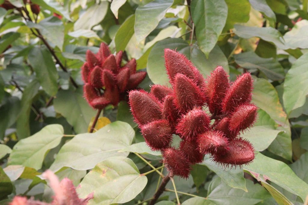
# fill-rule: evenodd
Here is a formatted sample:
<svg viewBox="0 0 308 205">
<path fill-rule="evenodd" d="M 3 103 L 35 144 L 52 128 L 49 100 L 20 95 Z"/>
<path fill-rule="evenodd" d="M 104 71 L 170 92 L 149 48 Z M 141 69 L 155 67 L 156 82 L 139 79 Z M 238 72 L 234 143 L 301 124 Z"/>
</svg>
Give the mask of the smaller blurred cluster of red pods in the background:
<svg viewBox="0 0 308 205">
<path fill-rule="evenodd" d="M 97 54 L 87 50 L 86 62 L 81 68 L 85 83 L 83 93 L 94 109 L 103 109 L 109 104 L 116 106 L 127 90 L 135 89 L 145 78 L 146 72 L 136 72 L 134 58 L 121 65 L 122 54 L 122 51 L 111 54 L 105 43 L 101 43 Z"/>
</svg>

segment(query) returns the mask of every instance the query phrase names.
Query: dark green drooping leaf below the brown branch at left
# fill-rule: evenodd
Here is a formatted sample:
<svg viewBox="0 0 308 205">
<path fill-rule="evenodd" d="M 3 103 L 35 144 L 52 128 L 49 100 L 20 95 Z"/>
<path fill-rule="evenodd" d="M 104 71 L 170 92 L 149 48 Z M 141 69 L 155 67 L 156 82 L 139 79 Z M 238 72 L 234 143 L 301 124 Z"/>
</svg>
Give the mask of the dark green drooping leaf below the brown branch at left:
<svg viewBox="0 0 308 205">
<path fill-rule="evenodd" d="M 28 59 L 43 89 L 47 94 L 55 96 L 58 91 L 59 75 L 50 52 L 47 48 L 33 47 L 28 54 Z"/>
</svg>

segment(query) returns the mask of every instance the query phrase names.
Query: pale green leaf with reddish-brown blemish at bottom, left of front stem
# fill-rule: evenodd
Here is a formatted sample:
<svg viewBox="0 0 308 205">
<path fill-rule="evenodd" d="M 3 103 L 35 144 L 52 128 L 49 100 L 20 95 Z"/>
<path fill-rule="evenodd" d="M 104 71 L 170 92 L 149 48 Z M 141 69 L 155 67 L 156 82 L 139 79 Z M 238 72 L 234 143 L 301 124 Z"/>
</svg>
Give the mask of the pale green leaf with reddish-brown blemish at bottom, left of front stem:
<svg viewBox="0 0 308 205">
<path fill-rule="evenodd" d="M 97 164 L 77 188 L 79 197 L 94 192 L 88 204 L 125 203 L 134 199 L 145 187 L 148 179 L 134 162 L 126 157 L 111 157 Z"/>
</svg>

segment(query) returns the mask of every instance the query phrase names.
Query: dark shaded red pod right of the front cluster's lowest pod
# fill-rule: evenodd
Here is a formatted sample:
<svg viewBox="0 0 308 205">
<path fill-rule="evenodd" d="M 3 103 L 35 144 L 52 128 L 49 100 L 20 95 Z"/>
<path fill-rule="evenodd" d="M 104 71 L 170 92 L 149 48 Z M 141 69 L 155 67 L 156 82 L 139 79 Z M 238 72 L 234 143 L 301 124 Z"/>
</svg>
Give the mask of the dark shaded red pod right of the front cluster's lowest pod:
<svg viewBox="0 0 308 205">
<path fill-rule="evenodd" d="M 179 149 L 184 153 L 190 163 L 195 164 L 203 161 L 204 155 L 200 153 L 195 141 L 188 142 L 183 140 L 180 142 Z"/>
</svg>

